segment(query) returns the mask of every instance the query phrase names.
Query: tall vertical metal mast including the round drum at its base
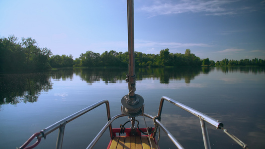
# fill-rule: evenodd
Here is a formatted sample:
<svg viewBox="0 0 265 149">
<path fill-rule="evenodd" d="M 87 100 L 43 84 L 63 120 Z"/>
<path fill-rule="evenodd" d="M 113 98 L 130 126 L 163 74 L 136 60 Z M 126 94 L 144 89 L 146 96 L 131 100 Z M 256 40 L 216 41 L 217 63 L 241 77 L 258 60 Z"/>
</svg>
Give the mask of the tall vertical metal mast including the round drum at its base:
<svg viewBox="0 0 265 149">
<path fill-rule="evenodd" d="M 125 115 L 132 117 L 132 127 L 134 127 L 134 117 L 142 114 L 144 99 L 135 94 L 135 71 L 134 71 L 134 12 L 133 0 L 127 0 L 127 19 L 128 19 L 128 52 L 129 52 L 129 74 L 128 82 L 129 93 L 122 97 L 122 111 Z"/>
</svg>

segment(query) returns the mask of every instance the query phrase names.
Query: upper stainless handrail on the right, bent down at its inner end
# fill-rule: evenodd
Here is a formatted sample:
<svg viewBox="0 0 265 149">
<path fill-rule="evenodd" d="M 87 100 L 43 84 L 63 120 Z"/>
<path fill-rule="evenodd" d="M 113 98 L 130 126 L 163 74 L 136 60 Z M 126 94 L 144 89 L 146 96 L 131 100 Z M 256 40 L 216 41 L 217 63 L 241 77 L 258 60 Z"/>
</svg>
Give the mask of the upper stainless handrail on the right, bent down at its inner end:
<svg viewBox="0 0 265 149">
<path fill-rule="evenodd" d="M 177 102 L 176 100 L 173 100 L 173 99 L 171 99 L 171 98 L 169 98 L 167 96 L 163 96 L 161 98 L 160 105 L 159 105 L 159 111 L 158 111 L 158 119 L 159 120 L 161 120 L 161 113 L 162 113 L 164 100 L 166 100 L 166 101 L 176 105 L 177 107 L 179 107 L 179 108 L 181 108 L 181 109 L 183 109 L 183 110 L 185 110 L 185 111 L 187 111 L 187 112 L 189 112 L 189 113 L 201 118 L 202 120 L 210 123 L 211 125 L 215 126 L 216 129 L 222 129 L 224 127 L 223 123 L 221 123 L 221 122 L 219 122 L 219 121 L 209 117 L 208 115 L 203 114 L 203 113 L 201 113 L 201 112 L 199 112 L 199 111 L 197 111 L 195 109 L 192 109 L 192 108 L 190 108 L 190 107 L 188 107 L 188 106 L 186 106 L 186 105 L 184 105 L 184 104 L 182 104 L 180 102 Z"/>
</svg>

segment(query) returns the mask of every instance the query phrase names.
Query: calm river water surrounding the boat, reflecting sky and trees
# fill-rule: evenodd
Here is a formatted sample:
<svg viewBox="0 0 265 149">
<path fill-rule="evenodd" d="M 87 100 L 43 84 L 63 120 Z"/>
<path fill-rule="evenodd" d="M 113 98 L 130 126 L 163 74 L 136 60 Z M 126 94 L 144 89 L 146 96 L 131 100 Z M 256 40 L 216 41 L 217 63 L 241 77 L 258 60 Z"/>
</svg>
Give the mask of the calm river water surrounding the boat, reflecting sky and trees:
<svg viewBox="0 0 265 149">
<path fill-rule="evenodd" d="M 111 117 L 120 114 L 121 98 L 128 93 L 127 72 L 102 68 L 0 74 L 0 149 L 20 147 L 32 134 L 102 99 L 109 101 Z M 265 68 L 160 68 L 135 73 L 135 93 L 144 98 L 145 113 L 157 115 L 161 97 L 168 96 L 223 122 L 250 149 L 265 148 Z M 63 149 L 86 149 L 105 125 L 105 111 L 102 105 L 68 123 Z M 136 119 L 144 127 L 143 117 Z M 127 120 L 120 118 L 112 127 Z M 165 102 L 161 122 L 185 149 L 203 149 L 197 117 Z M 242 149 L 221 130 L 207 127 L 212 149 Z M 57 134 L 42 139 L 36 149 L 55 148 Z M 109 140 L 106 131 L 94 149 L 106 148 Z M 164 132 L 159 145 L 176 149 Z"/>
</svg>

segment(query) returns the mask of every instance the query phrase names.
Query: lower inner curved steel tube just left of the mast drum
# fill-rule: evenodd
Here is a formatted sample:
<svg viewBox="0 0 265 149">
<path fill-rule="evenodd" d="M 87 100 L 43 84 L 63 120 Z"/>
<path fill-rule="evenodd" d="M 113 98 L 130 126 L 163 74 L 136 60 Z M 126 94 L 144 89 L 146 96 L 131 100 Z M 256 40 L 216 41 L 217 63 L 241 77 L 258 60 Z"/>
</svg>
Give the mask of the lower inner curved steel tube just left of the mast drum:
<svg viewBox="0 0 265 149">
<path fill-rule="evenodd" d="M 100 132 L 96 135 L 96 137 L 93 139 L 93 141 L 88 145 L 87 149 L 92 149 L 94 147 L 94 145 L 96 144 L 96 142 L 98 141 L 98 139 L 104 134 L 104 132 L 106 131 L 106 129 L 111 125 L 111 123 L 120 117 L 126 116 L 124 114 L 118 114 L 113 116 L 107 123 L 106 125 L 100 130 Z M 113 138 L 111 138 L 113 139 Z"/>
</svg>

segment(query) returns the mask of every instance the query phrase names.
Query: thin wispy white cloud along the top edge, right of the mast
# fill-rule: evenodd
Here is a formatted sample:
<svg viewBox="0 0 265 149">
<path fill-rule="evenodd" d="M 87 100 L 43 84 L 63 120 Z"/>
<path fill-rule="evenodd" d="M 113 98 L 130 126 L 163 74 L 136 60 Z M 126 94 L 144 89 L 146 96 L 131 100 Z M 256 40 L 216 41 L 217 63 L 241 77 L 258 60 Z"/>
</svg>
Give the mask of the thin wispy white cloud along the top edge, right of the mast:
<svg viewBox="0 0 265 149">
<path fill-rule="evenodd" d="M 150 6 L 143 6 L 140 10 L 147 12 L 150 17 L 165 14 L 199 13 L 205 15 L 231 15 L 250 10 L 250 7 L 229 5 L 240 0 L 179 0 L 178 2 L 155 0 Z"/>
</svg>

